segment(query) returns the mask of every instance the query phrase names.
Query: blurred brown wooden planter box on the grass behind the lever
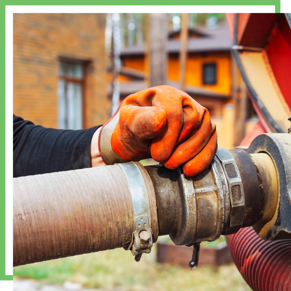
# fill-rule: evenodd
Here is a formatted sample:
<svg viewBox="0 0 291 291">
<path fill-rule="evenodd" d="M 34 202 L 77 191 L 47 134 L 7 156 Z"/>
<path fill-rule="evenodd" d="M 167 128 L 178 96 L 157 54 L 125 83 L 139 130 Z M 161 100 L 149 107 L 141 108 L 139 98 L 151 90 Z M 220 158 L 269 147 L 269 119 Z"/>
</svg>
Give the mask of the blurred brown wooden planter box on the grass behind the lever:
<svg viewBox="0 0 291 291">
<path fill-rule="evenodd" d="M 192 259 L 193 247 L 179 246 L 170 243 L 157 243 L 157 260 L 160 263 L 170 263 L 188 268 Z M 232 261 L 226 245 L 217 247 L 200 247 L 198 266 L 220 266 Z"/>
</svg>

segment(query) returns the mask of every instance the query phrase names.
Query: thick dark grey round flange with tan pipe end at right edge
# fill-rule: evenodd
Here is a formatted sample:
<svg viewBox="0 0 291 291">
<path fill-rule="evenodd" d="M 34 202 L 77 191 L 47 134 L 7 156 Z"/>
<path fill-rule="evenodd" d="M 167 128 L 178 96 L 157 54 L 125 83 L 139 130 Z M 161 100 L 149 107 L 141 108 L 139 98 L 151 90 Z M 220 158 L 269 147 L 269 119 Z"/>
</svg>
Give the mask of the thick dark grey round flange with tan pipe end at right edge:
<svg viewBox="0 0 291 291">
<path fill-rule="evenodd" d="M 260 134 L 249 146 L 248 152 L 252 157 L 255 156 L 253 154 L 267 154 L 269 158 L 256 161 L 264 194 L 268 196 L 264 210 L 269 221 L 258 221 L 254 229 L 265 240 L 291 239 L 291 135 Z M 266 163 L 269 165 L 266 166 Z M 274 197 L 275 189 L 277 199 Z"/>
</svg>

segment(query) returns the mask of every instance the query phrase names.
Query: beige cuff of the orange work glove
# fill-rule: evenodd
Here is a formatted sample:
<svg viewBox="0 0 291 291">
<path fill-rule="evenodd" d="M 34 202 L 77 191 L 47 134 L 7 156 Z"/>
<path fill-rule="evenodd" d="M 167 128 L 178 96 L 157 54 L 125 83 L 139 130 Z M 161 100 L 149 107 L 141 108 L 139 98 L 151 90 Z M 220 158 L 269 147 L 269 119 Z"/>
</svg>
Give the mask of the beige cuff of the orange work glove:
<svg viewBox="0 0 291 291">
<path fill-rule="evenodd" d="M 115 129 L 118 121 L 119 121 L 119 110 L 117 110 L 114 113 L 112 118 L 108 122 L 106 122 L 100 130 L 99 141 L 98 141 L 99 153 L 102 160 L 107 165 L 113 165 L 114 163 L 121 163 L 121 162 L 129 162 L 117 156 L 111 146 L 111 136 L 113 134 L 113 130 Z"/>
</svg>

